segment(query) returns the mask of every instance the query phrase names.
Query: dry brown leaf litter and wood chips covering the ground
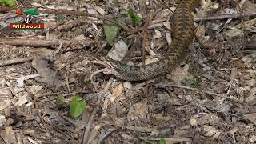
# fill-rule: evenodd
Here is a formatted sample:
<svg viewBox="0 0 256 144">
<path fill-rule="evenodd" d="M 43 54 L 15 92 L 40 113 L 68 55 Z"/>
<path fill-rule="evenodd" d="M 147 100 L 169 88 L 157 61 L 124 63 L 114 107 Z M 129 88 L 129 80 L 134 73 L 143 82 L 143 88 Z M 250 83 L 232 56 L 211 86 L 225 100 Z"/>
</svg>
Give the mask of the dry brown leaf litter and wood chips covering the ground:
<svg viewBox="0 0 256 144">
<path fill-rule="evenodd" d="M 146 82 L 124 82 L 101 73 L 90 82 L 90 75 L 102 69 L 93 61 L 106 55 L 122 61 L 132 48 L 130 40 L 142 38 L 150 10 L 158 13 L 147 30 L 145 62 L 158 61 L 172 42 L 174 1 L 31 5 L 40 7 L 38 21 L 49 31 L 7 30 L 8 22 L 19 22 L 20 17 L 6 10 L 0 14 L 1 44 L 5 38 L 32 39 L 34 34 L 38 44 L 47 38 L 70 43 L 27 46 L 9 41 L 0 46 L 0 142 L 256 142 L 254 1 L 202 0 L 193 12 L 199 42 L 192 42 L 176 70 L 148 87 Z M 54 10 L 62 12 L 61 21 Z M 142 65 L 140 51 L 135 49 L 127 63 Z M 28 58 L 34 55 L 38 58 Z M 62 105 L 57 102 L 60 94 Z M 76 94 L 87 106 L 78 107 L 77 118 L 70 118 L 69 103 Z"/>
</svg>

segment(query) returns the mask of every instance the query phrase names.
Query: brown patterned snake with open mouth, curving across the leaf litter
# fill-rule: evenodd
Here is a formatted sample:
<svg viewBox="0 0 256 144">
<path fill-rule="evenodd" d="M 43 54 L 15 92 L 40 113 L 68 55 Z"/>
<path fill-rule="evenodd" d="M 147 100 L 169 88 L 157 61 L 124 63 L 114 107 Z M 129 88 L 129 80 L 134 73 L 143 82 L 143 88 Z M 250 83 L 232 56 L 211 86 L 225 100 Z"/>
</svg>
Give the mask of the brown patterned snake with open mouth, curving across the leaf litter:
<svg viewBox="0 0 256 144">
<path fill-rule="evenodd" d="M 171 18 L 172 39 L 164 58 L 144 66 L 128 66 L 111 58 L 106 60 L 106 74 L 114 74 L 127 81 L 149 80 L 174 70 L 185 58 L 186 48 L 194 38 L 194 20 L 191 12 L 200 0 L 179 0 Z"/>
</svg>

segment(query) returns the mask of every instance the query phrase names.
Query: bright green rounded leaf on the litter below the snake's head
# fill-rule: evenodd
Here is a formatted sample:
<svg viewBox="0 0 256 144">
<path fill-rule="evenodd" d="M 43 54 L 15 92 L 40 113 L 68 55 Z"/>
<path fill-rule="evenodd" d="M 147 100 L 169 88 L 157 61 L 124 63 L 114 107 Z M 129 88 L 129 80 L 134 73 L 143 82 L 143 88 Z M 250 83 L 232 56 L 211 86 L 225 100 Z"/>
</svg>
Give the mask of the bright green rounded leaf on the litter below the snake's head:
<svg viewBox="0 0 256 144">
<path fill-rule="evenodd" d="M 82 98 L 78 95 L 75 95 L 70 102 L 70 115 L 73 118 L 77 118 L 80 116 L 86 108 L 86 101 L 82 100 Z"/>
</svg>

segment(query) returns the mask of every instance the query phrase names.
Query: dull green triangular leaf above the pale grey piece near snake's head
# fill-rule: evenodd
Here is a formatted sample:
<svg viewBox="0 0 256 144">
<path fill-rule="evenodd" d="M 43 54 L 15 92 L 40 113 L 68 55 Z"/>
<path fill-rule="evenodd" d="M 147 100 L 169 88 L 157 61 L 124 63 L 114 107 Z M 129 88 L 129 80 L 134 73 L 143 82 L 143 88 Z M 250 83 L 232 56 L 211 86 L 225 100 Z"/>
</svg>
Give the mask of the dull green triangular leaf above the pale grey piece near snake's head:
<svg viewBox="0 0 256 144">
<path fill-rule="evenodd" d="M 106 42 L 113 46 L 114 38 L 119 34 L 120 26 L 110 23 L 103 25 L 104 34 L 106 36 Z"/>
</svg>

